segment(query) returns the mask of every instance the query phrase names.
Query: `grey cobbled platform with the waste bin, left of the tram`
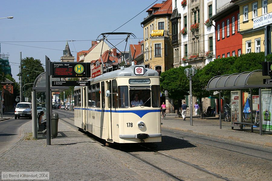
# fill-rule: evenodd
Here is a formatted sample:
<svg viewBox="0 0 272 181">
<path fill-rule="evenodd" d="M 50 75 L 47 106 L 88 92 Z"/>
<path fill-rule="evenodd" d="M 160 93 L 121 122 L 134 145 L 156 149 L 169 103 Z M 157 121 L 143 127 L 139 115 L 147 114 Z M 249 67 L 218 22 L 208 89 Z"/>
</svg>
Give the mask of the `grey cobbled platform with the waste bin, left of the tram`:
<svg viewBox="0 0 272 181">
<path fill-rule="evenodd" d="M 22 125 L 24 139 L 0 154 L 0 170 L 49 172 L 53 180 L 144 180 L 105 147 L 61 119 L 58 127 L 57 138 L 47 146 L 46 139 L 33 140 L 31 121 Z"/>
</svg>

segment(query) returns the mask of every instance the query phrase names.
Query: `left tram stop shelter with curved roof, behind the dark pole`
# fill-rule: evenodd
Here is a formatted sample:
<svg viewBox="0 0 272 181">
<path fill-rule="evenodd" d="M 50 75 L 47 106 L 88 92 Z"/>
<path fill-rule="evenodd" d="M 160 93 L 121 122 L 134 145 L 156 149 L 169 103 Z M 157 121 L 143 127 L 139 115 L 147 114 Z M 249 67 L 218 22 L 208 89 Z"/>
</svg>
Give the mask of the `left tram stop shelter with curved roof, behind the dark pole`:
<svg viewBox="0 0 272 181">
<path fill-rule="evenodd" d="M 38 120 L 37 120 L 37 102 L 39 102 L 43 106 L 43 110 L 45 109 L 45 98 L 47 95 L 45 95 L 46 92 L 46 72 L 41 73 L 36 80 L 34 81 L 33 85 L 33 91 L 32 91 L 32 133 L 33 138 L 37 139 L 37 132 L 38 132 Z M 50 76 L 50 94 L 52 95 L 52 92 L 61 92 L 65 89 L 69 89 L 69 87 L 52 87 L 52 81 L 65 81 L 64 78 L 52 78 Z M 37 99 L 37 94 L 39 94 L 39 99 Z M 51 97 L 50 95 L 50 97 Z M 41 98 L 42 97 L 42 98 Z M 50 105 L 46 106 L 47 111 L 50 111 L 52 115 L 52 101 L 50 101 Z M 50 108 L 48 110 L 48 107 Z M 46 115 L 46 112 L 44 112 L 44 115 Z M 45 119 L 45 116 L 44 116 Z"/>
</svg>

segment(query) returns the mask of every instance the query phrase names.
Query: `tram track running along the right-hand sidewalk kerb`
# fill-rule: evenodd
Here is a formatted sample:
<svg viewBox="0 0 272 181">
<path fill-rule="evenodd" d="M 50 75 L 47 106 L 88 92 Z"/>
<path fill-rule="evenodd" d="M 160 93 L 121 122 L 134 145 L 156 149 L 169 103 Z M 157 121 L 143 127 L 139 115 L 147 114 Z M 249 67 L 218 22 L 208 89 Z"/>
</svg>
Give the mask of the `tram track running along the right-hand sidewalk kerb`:
<svg viewBox="0 0 272 181">
<path fill-rule="evenodd" d="M 202 140 L 206 140 L 206 141 L 212 141 L 212 142 L 216 142 L 216 143 L 227 144 L 227 145 L 230 145 L 230 146 L 235 146 L 235 147 L 240 147 L 240 148 L 246 148 L 246 149 L 250 149 L 250 150 L 253 150 L 253 151 L 261 151 L 261 152 L 271 153 L 270 151 L 263 151 L 263 150 L 258 150 L 258 149 L 255 149 L 255 148 L 249 148 L 249 147 L 240 146 L 240 145 L 231 144 L 231 143 L 226 143 L 226 142 L 222 142 L 222 141 L 215 141 L 215 140 L 212 140 L 212 139 L 195 137 L 195 136 L 191 136 L 191 135 L 187 135 L 187 134 L 183 134 L 183 133 L 171 132 L 171 131 L 166 131 L 166 130 L 162 130 L 162 131 L 170 132 L 170 133 L 174 133 L 174 134 L 178 134 L 178 135 L 184 135 L 184 136 L 188 136 L 188 137 L 192 137 L 192 138 L 198 138 L 198 139 L 202 139 Z M 174 137 L 174 138 L 180 139 L 180 137 Z M 270 161 L 270 162 L 272 162 L 272 159 L 269 159 L 269 158 L 257 157 L 257 156 L 254 156 L 252 154 L 241 153 L 239 151 L 234 151 L 234 150 L 230 150 L 230 149 L 227 149 L 227 148 L 220 148 L 220 147 L 217 147 L 217 146 L 211 146 L 211 145 L 200 143 L 200 142 L 197 142 L 197 141 L 189 141 L 189 142 L 196 143 L 196 144 L 201 144 L 201 145 L 204 145 L 204 146 L 207 146 L 207 147 L 210 147 L 210 148 L 220 149 L 222 151 L 228 151 L 228 152 L 231 152 L 231 153 L 240 154 L 240 155 L 243 155 L 243 156 L 249 156 L 249 157 L 256 158 L 256 159 L 259 159 L 259 160 L 262 160 L 262 161 Z"/>
</svg>

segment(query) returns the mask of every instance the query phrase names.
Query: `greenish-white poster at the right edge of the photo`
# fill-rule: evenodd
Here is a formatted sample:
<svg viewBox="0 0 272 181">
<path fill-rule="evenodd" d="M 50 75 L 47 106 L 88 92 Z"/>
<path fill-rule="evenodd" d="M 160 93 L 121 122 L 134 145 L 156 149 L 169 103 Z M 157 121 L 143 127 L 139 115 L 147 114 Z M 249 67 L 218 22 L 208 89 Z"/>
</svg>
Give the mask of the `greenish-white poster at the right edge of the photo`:
<svg viewBox="0 0 272 181">
<path fill-rule="evenodd" d="M 271 105 L 272 89 L 261 90 L 262 99 L 262 129 L 264 131 L 272 131 L 272 105 Z"/>
</svg>

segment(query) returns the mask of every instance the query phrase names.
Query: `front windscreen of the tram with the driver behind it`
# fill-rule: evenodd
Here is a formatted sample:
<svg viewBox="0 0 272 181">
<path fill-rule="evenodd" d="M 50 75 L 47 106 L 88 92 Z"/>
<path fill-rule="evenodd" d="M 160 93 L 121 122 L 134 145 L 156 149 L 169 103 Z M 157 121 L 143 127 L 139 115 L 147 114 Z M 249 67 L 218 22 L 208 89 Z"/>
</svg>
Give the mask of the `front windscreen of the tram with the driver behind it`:
<svg viewBox="0 0 272 181">
<path fill-rule="evenodd" d="M 131 89 L 129 90 L 130 106 L 151 107 L 151 90 L 150 89 Z"/>
</svg>

